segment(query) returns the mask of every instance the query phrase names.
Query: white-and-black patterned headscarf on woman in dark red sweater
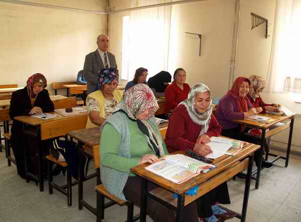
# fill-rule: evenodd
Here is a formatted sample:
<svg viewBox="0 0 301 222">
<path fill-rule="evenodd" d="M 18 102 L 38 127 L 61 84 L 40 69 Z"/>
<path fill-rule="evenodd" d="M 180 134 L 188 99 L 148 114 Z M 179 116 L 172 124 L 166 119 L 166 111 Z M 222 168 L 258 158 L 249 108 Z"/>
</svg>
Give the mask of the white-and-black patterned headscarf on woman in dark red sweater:
<svg viewBox="0 0 301 222">
<path fill-rule="evenodd" d="M 208 106 L 208 109 L 204 113 L 199 113 L 198 110 L 196 109 L 195 98 L 198 93 L 204 93 L 204 92 L 209 92 L 210 105 Z M 208 86 L 206 86 L 205 84 L 194 85 L 189 91 L 188 98 L 186 100 L 182 101 L 180 104 L 183 104 L 186 107 L 191 120 L 194 123 L 202 126 L 200 135 L 206 133 L 209 128 L 211 113 L 212 113 L 212 109 L 213 109 L 212 96 L 211 96 L 211 92 L 210 92 L 210 89 L 208 88 Z"/>
</svg>

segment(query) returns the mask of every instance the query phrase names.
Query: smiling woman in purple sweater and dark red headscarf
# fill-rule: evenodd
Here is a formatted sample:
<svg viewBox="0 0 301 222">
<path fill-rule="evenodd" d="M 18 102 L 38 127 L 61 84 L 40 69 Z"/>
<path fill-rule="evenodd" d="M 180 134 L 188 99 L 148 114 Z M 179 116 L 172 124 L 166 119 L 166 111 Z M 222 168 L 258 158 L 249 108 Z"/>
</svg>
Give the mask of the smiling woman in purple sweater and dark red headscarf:
<svg viewBox="0 0 301 222">
<path fill-rule="evenodd" d="M 238 77 L 234 81 L 232 88 L 219 101 L 216 109 L 216 119 L 219 124 L 222 125 L 221 135 L 256 143 L 256 140 L 251 140 L 243 136 L 243 133 L 248 131 L 245 125 L 239 125 L 233 122 L 233 120 L 248 118 L 262 111 L 260 107 L 253 108 L 247 99 L 249 86 L 249 79 Z M 260 156 L 260 150 L 257 150 L 254 158 L 256 165 L 258 165 L 260 158 L 262 159 L 262 167 L 268 168 L 272 166 L 271 162 L 265 161 L 262 156 Z"/>
</svg>

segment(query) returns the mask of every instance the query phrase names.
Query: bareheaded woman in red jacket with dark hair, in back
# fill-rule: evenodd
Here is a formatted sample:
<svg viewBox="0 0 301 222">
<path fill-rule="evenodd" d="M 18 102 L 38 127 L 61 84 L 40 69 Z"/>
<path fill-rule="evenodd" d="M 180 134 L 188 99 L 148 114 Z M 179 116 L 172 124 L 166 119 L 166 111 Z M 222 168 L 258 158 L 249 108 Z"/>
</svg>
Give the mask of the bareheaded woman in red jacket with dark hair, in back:
<svg viewBox="0 0 301 222">
<path fill-rule="evenodd" d="M 186 72 L 182 68 L 176 69 L 174 73 L 174 81 L 166 88 L 165 98 L 166 107 L 165 113 L 169 114 L 183 100 L 187 99 L 190 86 L 185 83 Z"/>
</svg>

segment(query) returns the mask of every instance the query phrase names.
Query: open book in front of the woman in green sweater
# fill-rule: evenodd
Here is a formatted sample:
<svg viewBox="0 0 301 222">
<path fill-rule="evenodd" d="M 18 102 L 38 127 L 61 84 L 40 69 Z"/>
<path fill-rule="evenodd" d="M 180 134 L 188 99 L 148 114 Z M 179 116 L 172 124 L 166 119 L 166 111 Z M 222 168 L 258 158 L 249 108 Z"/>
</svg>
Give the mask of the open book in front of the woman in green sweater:
<svg viewBox="0 0 301 222">
<path fill-rule="evenodd" d="M 156 163 L 146 166 L 145 169 L 156 173 L 175 183 L 183 183 L 190 178 L 208 172 L 216 166 L 193 159 L 183 154 L 168 155 Z"/>
</svg>

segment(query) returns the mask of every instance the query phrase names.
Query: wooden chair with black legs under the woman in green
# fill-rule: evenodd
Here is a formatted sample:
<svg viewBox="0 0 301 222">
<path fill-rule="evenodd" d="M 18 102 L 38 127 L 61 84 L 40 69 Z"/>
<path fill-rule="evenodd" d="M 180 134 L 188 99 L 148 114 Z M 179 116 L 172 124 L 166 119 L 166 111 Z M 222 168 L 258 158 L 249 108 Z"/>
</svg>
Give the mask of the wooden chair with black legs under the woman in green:
<svg viewBox="0 0 301 222">
<path fill-rule="evenodd" d="M 99 160 L 99 146 L 93 147 L 93 160 L 94 160 L 94 168 L 100 167 L 100 160 Z M 98 175 L 99 176 L 99 175 Z M 101 222 L 104 219 L 104 209 L 114 205 L 127 205 L 127 222 L 136 221 L 139 219 L 139 215 L 133 216 L 134 204 L 130 201 L 123 201 L 116 196 L 110 194 L 103 186 L 103 184 L 99 184 L 95 186 L 95 191 L 97 195 L 97 203 L 96 203 L 96 216 L 97 222 Z M 110 202 L 104 203 L 104 197 L 110 199 Z"/>
</svg>

